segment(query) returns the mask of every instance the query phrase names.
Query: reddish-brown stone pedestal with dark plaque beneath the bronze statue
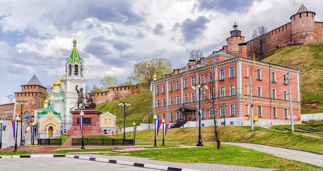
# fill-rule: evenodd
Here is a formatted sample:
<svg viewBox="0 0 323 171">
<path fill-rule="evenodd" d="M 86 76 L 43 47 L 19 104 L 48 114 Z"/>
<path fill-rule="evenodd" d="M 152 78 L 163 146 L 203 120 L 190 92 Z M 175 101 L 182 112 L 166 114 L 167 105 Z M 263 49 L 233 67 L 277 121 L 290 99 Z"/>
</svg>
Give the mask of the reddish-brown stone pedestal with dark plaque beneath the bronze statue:
<svg viewBox="0 0 323 171">
<path fill-rule="evenodd" d="M 78 118 L 80 117 L 80 112 L 84 112 L 83 116 L 83 135 L 104 135 L 100 127 L 100 114 L 101 112 L 95 109 L 82 109 L 82 110 L 73 110 L 73 123 L 71 129 L 67 131 L 67 135 L 82 135 L 80 123 Z M 86 123 L 86 121 L 91 120 L 91 123 Z"/>
</svg>

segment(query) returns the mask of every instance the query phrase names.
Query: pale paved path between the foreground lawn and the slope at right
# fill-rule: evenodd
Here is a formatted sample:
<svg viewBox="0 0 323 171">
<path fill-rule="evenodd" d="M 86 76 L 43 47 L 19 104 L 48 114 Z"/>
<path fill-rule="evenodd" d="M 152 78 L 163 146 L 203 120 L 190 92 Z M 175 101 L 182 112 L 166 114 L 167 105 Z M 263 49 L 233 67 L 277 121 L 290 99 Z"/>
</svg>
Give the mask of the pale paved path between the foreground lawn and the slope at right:
<svg viewBox="0 0 323 171">
<path fill-rule="evenodd" d="M 309 163 L 323 167 L 323 155 L 314 154 L 304 151 L 285 149 L 280 147 L 271 147 L 266 145 L 259 144 L 248 144 L 248 143 L 231 143 L 231 142 L 222 142 L 222 144 L 235 145 L 243 148 L 248 148 L 256 151 L 261 151 L 269 154 L 273 154 L 278 157 L 300 161 L 304 163 Z"/>
</svg>

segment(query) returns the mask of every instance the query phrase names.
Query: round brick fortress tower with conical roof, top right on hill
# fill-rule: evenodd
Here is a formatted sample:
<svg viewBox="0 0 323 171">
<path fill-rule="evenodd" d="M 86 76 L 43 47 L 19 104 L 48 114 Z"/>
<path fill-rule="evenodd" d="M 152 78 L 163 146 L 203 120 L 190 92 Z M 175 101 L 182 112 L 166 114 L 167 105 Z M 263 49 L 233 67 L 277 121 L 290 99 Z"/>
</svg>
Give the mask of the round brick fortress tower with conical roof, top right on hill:
<svg viewBox="0 0 323 171">
<path fill-rule="evenodd" d="M 292 41 L 294 44 L 309 43 L 315 41 L 314 12 L 310 12 L 302 4 L 296 14 L 290 17 L 292 20 Z"/>
</svg>

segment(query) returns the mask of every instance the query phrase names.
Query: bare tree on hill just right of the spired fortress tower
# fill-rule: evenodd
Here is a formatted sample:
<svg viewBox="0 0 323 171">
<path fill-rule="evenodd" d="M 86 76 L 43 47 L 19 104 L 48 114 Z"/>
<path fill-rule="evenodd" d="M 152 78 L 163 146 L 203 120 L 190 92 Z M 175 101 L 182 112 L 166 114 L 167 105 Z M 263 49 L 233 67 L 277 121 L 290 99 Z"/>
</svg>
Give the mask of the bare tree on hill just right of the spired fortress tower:
<svg viewBox="0 0 323 171">
<path fill-rule="evenodd" d="M 265 53 L 268 51 L 268 28 L 265 26 L 258 26 L 256 29 L 253 30 L 253 33 L 251 35 L 251 38 L 253 39 L 250 44 L 250 51 L 248 56 L 252 56 L 252 54 L 255 54 L 255 56 L 260 57 L 260 59 L 265 58 Z"/>
</svg>

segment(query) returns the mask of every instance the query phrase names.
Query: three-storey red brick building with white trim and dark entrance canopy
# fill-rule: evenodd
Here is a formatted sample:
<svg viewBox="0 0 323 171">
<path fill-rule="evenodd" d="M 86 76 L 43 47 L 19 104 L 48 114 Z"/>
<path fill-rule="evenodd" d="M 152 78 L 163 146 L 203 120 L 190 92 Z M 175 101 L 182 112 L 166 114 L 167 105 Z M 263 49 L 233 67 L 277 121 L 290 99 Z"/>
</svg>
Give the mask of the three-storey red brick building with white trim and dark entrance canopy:
<svg viewBox="0 0 323 171">
<path fill-rule="evenodd" d="M 201 87 L 201 123 L 250 123 L 250 79 L 252 78 L 253 115 L 255 124 L 290 122 L 287 73 L 290 72 L 293 119 L 300 121 L 300 70 L 246 57 L 246 46 L 240 44 L 241 56 L 223 52 L 189 62 L 166 77 L 154 80 L 153 110 L 158 119 L 168 123 L 185 120 L 188 126 L 197 126 L 199 91 L 192 90 L 195 83 Z M 214 108 L 208 99 L 214 100 Z"/>
</svg>

